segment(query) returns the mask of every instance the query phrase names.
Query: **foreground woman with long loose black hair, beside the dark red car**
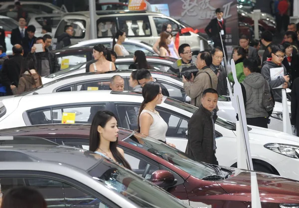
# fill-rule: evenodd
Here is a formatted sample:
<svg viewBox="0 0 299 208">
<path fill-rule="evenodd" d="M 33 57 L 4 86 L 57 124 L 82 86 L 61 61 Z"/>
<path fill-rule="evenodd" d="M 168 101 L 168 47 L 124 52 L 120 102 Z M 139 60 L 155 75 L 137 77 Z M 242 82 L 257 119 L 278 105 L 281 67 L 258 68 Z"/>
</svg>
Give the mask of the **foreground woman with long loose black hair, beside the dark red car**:
<svg viewBox="0 0 299 208">
<path fill-rule="evenodd" d="M 89 150 L 131 170 L 124 150 L 117 147 L 118 132 L 116 116 L 110 111 L 98 111 L 91 123 Z"/>
</svg>

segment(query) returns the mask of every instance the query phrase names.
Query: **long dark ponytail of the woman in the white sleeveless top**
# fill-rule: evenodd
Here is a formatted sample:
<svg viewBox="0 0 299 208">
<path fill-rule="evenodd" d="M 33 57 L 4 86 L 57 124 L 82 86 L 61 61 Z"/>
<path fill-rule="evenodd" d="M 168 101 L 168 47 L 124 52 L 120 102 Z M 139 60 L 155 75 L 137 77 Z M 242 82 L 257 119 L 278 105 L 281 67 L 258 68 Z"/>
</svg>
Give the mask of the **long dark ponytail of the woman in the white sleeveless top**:
<svg viewBox="0 0 299 208">
<path fill-rule="evenodd" d="M 142 88 L 142 96 L 144 97 L 144 101 L 142 102 L 138 114 L 138 126 L 137 126 L 137 132 L 140 132 L 140 114 L 145 109 L 145 106 L 147 103 L 153 101 L 153 99 L 160 93 L 160 85 L 155 82 L 148 82 L 145 84 L 145 86 Z"/>
</svg>

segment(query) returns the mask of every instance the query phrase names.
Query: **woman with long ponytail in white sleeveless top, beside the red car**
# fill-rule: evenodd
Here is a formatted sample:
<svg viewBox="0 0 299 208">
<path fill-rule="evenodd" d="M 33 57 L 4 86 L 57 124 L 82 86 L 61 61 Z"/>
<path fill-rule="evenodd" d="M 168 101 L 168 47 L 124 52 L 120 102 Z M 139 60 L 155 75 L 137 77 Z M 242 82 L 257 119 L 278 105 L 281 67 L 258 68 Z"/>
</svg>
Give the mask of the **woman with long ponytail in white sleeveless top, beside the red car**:
<svg viewBox="0 0 299 208">
<path fill-rule="evenodd" d="M 163 95 L 158 83 L 148 82 L 142 88 L 144 101 L 138 116 L 138 132 L 166 143 L 167 123 L 155 110 L 156 105 L 162 103 Z M 167 143 L 168 144 L 168 143 Z M 173 144 L 168 144 L 175 147 Z"/>
</svg>

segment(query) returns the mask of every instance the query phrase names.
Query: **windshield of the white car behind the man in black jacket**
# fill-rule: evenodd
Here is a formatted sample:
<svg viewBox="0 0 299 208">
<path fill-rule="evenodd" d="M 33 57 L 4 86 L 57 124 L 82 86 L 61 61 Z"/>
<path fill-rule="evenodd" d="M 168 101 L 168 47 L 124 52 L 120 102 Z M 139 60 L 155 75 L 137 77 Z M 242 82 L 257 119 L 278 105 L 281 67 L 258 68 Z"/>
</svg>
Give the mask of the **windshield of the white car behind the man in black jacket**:
<svg viewBox="0 0 299 208">
<path fill-rule="evenodd" d="M 194 113 L 197 110 L 197 107 L 195 107 L 193 105 L 189 105 L 187 103 L 183 103 L 181 101 L 178 101 L 178 100 L 175 100 L 175 99 L 169 98 L 169 97 L 167 97 L 165 99 L 164 103 L 174 106 L 176 108 L 180 108 L 189 113 Z M 227 121 L 225 119 L 218 117 L 215 123 L 218 124 L 219 126 L 222 126 L 223 128 L 236 131 L 236 123 L 234 123 L 234 122 L 230 122 L 230 121 Z M 250 131 L 250 130 L 251 130 L 251 128 L 248 128 L 248 131 Z"/>
</svg>

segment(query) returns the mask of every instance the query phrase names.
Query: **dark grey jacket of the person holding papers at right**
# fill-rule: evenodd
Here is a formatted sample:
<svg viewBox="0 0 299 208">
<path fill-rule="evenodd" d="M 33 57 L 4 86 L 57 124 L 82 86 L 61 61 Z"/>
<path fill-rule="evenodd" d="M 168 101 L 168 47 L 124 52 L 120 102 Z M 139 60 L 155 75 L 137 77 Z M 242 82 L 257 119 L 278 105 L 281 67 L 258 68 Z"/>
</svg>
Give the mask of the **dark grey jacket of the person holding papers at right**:
<svg viewBox="0 0 299 208">
<path fill-rule="evenodd" d="M 284 75 L 287 73 L 287 69 L 284 66 L 284 64 L 279 66 L 279 65 L 275 64 L 272 61 L 265 61 L 264 62 L 261 73 L 262 73 L 263 77 L 270 84 L 275 102 L 280 102 L 281 103 L 282 102 L 282 88 L 279 88 L 279 89 L 273 89 L 273 88 L 279 87 L 280 85 L 284 84 L 286 82 L 286 80 L 285 80 L 284 77 L 279 77 L 278 79 L 271 80 L 271 74 L 270 74 L 270 69 L 271 68 L 277 68 L 277 67 L 284 67 Z M 290 82 L 288 82 L 288 85 L 289 86 L 291 85 Z"/>
</svg>

